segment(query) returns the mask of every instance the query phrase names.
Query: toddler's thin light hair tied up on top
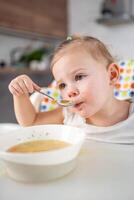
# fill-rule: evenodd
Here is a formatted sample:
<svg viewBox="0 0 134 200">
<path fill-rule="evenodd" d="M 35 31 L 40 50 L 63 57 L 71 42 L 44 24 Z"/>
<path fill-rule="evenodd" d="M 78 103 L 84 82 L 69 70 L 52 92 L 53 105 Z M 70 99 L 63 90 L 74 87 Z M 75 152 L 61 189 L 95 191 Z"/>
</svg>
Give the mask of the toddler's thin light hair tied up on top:
<svg viewBox="0 0 134 200">
<path fill-rule="evenodd" d="M 67 37 L 55 50 L 52 60 L 51 60 L 51 69 L 54 64 L 71 48 L 71 47 L 83 47 L 87 50 L 90 55 L 101 61 L 102 59 L 107 61 L 107 66 L 115 62 L 115 59 L 110 54 L 109 50 L 99 39 L 91 36 L 76 36 L 72 35 Z"/>
</svg>

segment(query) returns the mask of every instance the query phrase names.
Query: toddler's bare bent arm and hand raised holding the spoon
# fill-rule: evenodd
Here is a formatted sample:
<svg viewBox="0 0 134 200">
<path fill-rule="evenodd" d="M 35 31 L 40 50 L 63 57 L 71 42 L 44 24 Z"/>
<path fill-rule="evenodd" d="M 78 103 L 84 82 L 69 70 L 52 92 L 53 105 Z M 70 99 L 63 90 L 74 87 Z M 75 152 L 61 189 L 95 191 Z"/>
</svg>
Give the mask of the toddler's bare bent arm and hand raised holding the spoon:
<svg viewBox="0 0 134 200">
<path fill-rule="evenodd" d="M 30 126 L 35 124 L 62 123 L 61 108 L 44 113 L 37 113 L 35 111 L 29 99 L 29 93 L 40 89 L 27 75 L 18 76 L 9 84 L 9 90 L 13 94 L 15 115 L 20 125 Z M 56 117 L 54 116 L 55 113 Z"/>
</svg>

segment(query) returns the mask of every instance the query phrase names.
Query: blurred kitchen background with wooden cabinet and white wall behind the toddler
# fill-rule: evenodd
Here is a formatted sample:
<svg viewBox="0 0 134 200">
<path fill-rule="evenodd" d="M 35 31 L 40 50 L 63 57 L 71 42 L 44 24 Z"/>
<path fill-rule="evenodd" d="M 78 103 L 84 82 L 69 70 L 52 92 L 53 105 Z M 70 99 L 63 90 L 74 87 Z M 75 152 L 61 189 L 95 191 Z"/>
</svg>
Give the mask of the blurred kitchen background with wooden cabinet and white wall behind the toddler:
<svg viewBox="0 0 134 200">
<path fill-rule="evenodd" d="M 9 82 L 51 83 L 56 45 L 72 33 L 98 37 L 117 59 L 134 58 L 134 0 L 0 0 L 0 123 L 16 122 Z"/>
</svg>

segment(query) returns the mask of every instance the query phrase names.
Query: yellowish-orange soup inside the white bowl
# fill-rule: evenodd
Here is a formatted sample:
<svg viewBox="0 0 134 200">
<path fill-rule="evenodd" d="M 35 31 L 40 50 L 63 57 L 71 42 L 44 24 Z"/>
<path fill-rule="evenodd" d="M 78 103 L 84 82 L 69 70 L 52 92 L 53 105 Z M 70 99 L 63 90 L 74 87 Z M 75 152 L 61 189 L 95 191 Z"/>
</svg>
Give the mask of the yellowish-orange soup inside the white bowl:
<svg viewBox="0 0 134 200">
<path fill-rule="evenodd" d="M 13 153 L 32 153 L 61 149 L 70 145 L 70 143 L 60 140 L 33 140 L 14 145 L 10 147 L 7 151 Z"/>
</svg>

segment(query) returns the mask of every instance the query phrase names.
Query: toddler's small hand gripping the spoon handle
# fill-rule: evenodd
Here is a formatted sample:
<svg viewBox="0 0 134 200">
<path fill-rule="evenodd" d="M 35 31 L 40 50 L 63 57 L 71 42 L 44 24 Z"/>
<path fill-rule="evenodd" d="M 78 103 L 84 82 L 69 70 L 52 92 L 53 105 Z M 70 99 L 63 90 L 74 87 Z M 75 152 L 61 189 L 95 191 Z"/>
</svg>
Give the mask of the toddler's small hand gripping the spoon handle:
<svg viewBox="0 0 134 200">
<path fill-rule="evenodd" d="M 40 90 L 41 88 L 34 83 L 27 75 L 20 75 L 13 79 L 9 86 L 9 91 L 13 95 L 28 95 L 28 93 L 32 93 L 36 90 Z"/>
</svg>

